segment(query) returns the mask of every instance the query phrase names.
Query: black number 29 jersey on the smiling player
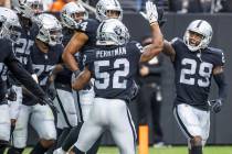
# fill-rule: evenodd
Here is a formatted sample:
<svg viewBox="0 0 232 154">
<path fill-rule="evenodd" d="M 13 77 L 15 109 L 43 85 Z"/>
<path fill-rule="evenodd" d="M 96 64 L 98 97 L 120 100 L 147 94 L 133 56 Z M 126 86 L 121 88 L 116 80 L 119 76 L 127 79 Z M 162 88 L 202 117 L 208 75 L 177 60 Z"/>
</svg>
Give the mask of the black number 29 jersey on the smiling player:
<svg viewBox="0 0 232 154">
<path fill-rule="evenodd" d="M 218 48 L 204 48 L 191 52 L 180 38 L 172 41 L 176 52 L 173 61 L 177 98 L 175 105 L 188 103 L 208 110 L 212 70 L 224 65 L 223 52 Z"/>
</svg>

